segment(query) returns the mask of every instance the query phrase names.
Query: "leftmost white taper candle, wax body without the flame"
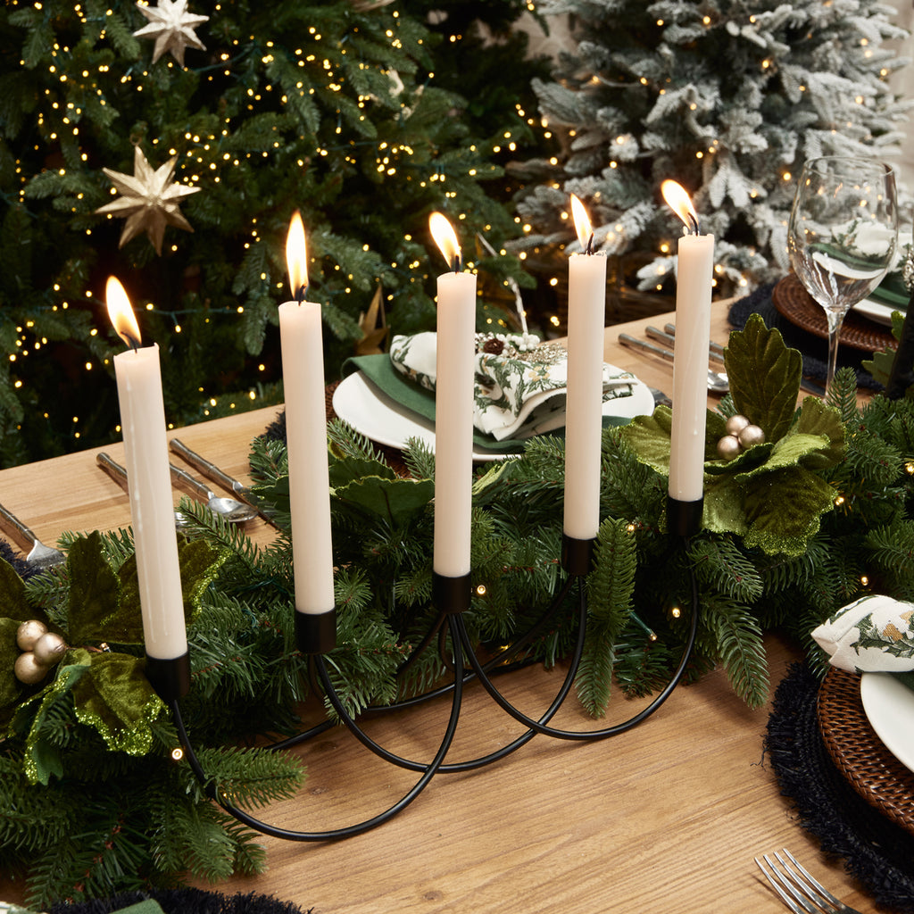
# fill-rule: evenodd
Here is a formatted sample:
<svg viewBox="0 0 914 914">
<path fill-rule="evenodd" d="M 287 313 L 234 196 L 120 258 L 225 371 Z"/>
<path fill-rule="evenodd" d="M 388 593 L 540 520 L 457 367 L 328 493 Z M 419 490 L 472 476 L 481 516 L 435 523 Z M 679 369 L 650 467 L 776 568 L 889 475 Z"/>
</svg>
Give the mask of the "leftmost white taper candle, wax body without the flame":
<svg viewBox="0 0 914 914">
<path fill-rule="evenodd" d="M 158 345 L 114 356 L 145 651 L 187 653 Z"/>
</svg>

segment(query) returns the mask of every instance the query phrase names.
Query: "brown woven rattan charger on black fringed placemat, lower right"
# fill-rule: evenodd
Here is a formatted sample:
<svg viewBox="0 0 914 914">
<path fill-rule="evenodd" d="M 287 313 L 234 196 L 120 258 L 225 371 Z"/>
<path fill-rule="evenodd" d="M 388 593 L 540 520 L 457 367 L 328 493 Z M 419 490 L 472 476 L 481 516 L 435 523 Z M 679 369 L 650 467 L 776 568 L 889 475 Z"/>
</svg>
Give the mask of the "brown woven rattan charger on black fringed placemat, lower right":
<svg viewBox="0 0 914 914">
<path fill-rule="evenodd" d="M 819 728 L 838 771 L 866 802 L 914 834 L 914 773 L 882 744 L 860 700 L 860 677 L 830 670 L 819 689 Z"/>
</svg>

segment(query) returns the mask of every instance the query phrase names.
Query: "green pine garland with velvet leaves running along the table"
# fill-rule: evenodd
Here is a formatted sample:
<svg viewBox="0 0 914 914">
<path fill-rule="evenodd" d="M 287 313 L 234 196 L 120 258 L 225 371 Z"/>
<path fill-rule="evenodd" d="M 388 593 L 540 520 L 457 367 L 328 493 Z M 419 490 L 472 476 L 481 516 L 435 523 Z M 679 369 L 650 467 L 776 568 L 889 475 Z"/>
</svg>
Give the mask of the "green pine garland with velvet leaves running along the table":
<svg viewBox="0 0 914 914">
<path fill-rule="evenodd" d="M 836 608 L 871 590 L 914 597 L 914 399 L 877 396 L 858 407 L 845 372 L 827 403 L 807 398 L 797 409 L 799 355 L 759 318 L 731 335 L 726 359 L 732 393 L 708 416 L 705 515 L 695 537 L 665 532 L 669 410 L 604 431 L 603 519 L 577 682 L 595 717 L 613 685 L 626 695 L 663 685 L 694 611 L 687 680 L 722 664 L 739 696 L 759 707 L 769 690 L 763 632 L 792 632 L 821 667 L 808 632 Z M 726 460 L 717 439 L 738 412 L 765 441 Z M 358 713 L 424 694 L 447 675 L 437 650 L 416 652 L 435 615 L 434 462 L 412 442 L 407 473 L 398 473 L 338 420 L 328 441 L 339 646 L 326 660 Z M 558 591 L 563 456 L 562 439 L 543 436 L 477 472 L 466 621 L 481 651 L 528 632 Z M 271 545 L 255 545 L 205 505 L 182 505 L 193 664 L 182 707 L 211 777 L 257 807 L 303 782 L 300 760 L 260 738 L 301 728 L 310 685 L 292 632 L 284 444 L 260 437 L 250 461 L 255 492 L 281 530 Z M 173 757 L 175 728 L 143 675 L 130 532 L 68 534 L 60 545 L 67 564 L 45 574 L 23 580 L 0 564 L 0 867 L 27 877 L 39 906 L 188 873 L 218 880 L 260 871 L 258 836 L 208 802 Z M 689 605 L 693 572 L 698 607 Z M 564 609 L 537 628 L 515 665 L 561 663 L 576 626 Z M 14 674 L 16 631 L 29 620 L 69 645 L 35 685 Z M 311 697 L 319 707 L 320 696 Z"/>
</svg>

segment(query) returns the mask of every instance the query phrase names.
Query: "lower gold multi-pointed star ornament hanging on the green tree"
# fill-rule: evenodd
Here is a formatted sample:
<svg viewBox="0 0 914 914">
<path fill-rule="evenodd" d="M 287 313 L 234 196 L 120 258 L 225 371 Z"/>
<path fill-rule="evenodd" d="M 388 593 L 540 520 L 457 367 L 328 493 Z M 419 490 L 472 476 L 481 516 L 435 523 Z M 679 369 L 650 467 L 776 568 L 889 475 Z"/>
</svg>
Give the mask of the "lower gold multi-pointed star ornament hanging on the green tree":
<svg viewBox="0 0 914 914">
<path fill-rule="evenodd" d="M 149 236 L 155 253 L 162 253 L 162 239 L 165 238 L 165 226 L 184 228 L 193 231 L 190 223 L 181 215 L 178 204 L 185 197 L 196 194 L 199 187 L 188 187 L 183 184 L 171 184 L 175 174 L 177 156 L 170 158 L 165 165 L 153 168 L 143 155 L 139 146 L 133 154 L 133 175 L 123 175 L 111 168 L 101 170 L 109 177 L 121 197 L 108 203 L 95 212 L 99 215 L 111 214 L 126 218 L 121 240 L 122 248 L 130 239 L 144 231 Z"/>
</svg>

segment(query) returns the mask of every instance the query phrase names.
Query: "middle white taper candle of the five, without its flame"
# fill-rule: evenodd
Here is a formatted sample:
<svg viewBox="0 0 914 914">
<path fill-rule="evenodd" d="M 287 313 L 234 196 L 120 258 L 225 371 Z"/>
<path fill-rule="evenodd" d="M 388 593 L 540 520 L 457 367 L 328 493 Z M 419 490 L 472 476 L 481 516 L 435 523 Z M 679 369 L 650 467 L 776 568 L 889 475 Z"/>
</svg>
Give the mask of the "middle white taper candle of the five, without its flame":
<svg viewBox="0 0 914 914">
<path fill-rule="evenodd" d="M 473 367 L 476 277 L 438 277 L 435 380 L 435 522 L 432 568 L 447 578 L 470 573 L 473 510 Z"/>
</svg>

